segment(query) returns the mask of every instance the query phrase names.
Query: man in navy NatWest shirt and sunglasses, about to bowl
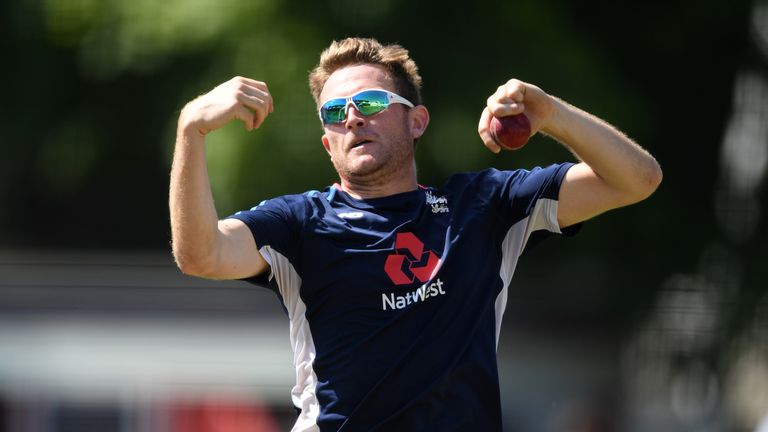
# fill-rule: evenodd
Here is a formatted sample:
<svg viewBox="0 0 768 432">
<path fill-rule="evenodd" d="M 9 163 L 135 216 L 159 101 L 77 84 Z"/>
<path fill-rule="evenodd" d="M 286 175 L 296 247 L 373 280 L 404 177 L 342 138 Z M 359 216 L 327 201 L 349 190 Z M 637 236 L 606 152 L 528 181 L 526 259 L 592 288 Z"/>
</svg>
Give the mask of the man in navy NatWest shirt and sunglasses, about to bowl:
<svg viewBox="0 0 768 432">
<path fill-rule="evenodd" d="M 501 430 L 496 346 L 515 264 L 533 232 L 563 230 L 648 197 L 656 161 L 605 122 L 518 80 L 487 100 L 582 161 L 531 171 L 416 180 L 429 124 L 408 53 L 371 39 L 334 42 L 310 74 L 322 143 L 340 183 L 268 200 L 218 221 L 204 138 L 272 112 L 263 82 L 234 78 L 179 118 L 171 173 L 173 251 L 185 273 L 250 279 L 290 318 L 299 410 L 294 430 Z"/>
</svg>

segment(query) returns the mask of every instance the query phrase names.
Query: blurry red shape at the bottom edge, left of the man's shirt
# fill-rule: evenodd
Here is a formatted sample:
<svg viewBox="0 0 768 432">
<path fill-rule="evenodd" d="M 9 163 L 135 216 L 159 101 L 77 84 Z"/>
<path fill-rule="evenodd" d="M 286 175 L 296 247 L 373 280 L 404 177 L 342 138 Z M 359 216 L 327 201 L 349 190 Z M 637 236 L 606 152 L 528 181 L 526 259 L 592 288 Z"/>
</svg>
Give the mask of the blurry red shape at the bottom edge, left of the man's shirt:
<svg viewBox="0 0 768 432">
<path fill-rule="evenodd" d="M 169 414 L 171 432 L 279 432 L 269 409 L 252 401 L 179 403 Z"/>
</svg>

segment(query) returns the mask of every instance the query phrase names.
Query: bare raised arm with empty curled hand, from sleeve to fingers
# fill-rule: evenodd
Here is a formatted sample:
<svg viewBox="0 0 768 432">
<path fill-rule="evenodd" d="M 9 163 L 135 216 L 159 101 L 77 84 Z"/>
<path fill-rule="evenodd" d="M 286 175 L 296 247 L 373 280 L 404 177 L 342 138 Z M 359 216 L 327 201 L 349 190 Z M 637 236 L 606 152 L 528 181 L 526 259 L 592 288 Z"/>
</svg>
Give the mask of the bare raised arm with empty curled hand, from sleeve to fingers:
<svg viewBox="0 0 768 432">
<path fill-rule="evenodd" d="M 169 207 L 173 256 L 182 272 L 212 279 L 237 279 L 268 265 L 248 227 L 219 221 L 205 157 L 205 136 L 232 120 L 250 131 L 272 112 L 263 82 L 235 77 L 188 103 L 179 116 L 171 168 Z"/>
</svg>

